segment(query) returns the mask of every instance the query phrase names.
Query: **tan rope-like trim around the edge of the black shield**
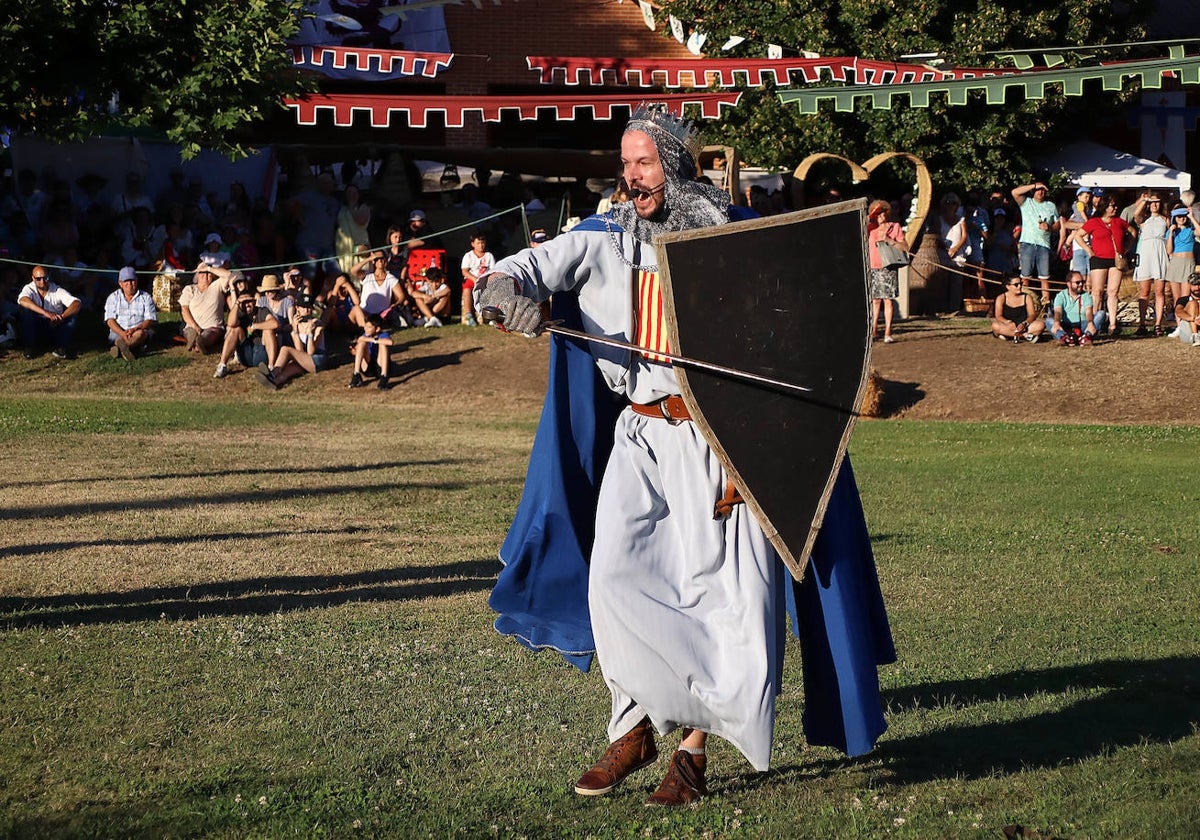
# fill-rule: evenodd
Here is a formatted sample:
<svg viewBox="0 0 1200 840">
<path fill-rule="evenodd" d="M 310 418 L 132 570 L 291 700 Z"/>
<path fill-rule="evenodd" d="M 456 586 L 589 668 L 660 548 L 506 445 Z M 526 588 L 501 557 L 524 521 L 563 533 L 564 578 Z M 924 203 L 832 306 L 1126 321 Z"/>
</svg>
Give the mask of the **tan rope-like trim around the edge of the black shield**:
<svg viewBox="0 0 1200 840">
<path fill-rule="evenodd" d="M 692 421 L 696 424 L 697 428 L 700 428 L 701 434 L 704 437 L 704 440 L 716 454 L 721 464 L 725 467 L 725 470 L 732 478 L 738 490 L 742 492 L 746 506 L 754 514 L 755 518 L 758 521 L 758 524 L 762 527 L 763 533 L 770 540 L 772 545 L 779 552 L 780 558 L 784 560 L 785 565 L 787 565 L 788 571 L 791 571 L 792 576 L 797 581 L 799 581 L 804 575 L 804 568 L 805 564 L 808 563 L 809 553 L 812 551 L 812 544 L 816 540 L 817 533 L 821 529 L 821 523 L 824 520 L 826 509 L 829 503 L 829 494 L 833 492 L 833 485 L 841 468 L 842 458 L 845 458 L 846 448 L 850 443 L 850 436 L 851 432 L 853 431 L 854 421 L 858 418 L 858 410 L 863 403 L 863 395 L 866 391 L 866 379 L 868 379 L 870 349 L 871 349 L 870 290 L 868 284 L 869 263 L 866 254 L 866 200 L 856 199 L 851 202 L 839 202 L 836 204 L 829 204 L 821 208 L 812 208 L 809 210 L 798 210 L 796 212 L 782 214 L 779 216 L 768 216 L 763 218 L 748 220 L 744 222 L 733 222 L 730 224 L 722 224 L 713 228 L 701 228 L 696 230 L 683 230 L 678 233 L 670 233 L 670 234 L 664 234 L 661 236 L 656 236 L 654 240 L 654 245 L 659 254 L 659 280 L 662 289 L 662 305 L 664 305 L 667 336 L 670 337 L 672 352 L 682 355 L 692 355 L 694 358 L 701 358 L 725 364 L 726 360 L 721 359 L 718 355 L 716 348 L 708 349 L 708 348 L 692 348 L 682 346 L 679 341 L 679 320 L 674 302 L 674 292 L 673 292 L 674 287 L 672 286 L 671 268 L 668 260 L 670 248 L 666 246 L 671 246 L 679 242 L 696 241 L 714 236 L 731 236 L 748 230 L 761 230 L 763 228 L 794 224 L 797 222 L 821 218 L 826 216 L 833 216 L 838 214 L 857 214 L 858 216 L 858 226 L 857 226 L 859 232 L 858 242 L 862 247 L 862 254 L 863 254 L 862 281 L 858 288 L 847 288 L 846 294 L 854 294 L 862 299 L 862 305 L 863 305 L 862 329 L 864 331 L 863 360 L 862 360 L 863 364 L 862 364 L 862 372 L 859 376 L 858 388 L 856 391 L 856 396 L 853 398 L 853 406 L 846 412 L 848 414 L 848 418 L 846 427 L 841 434 L 841 439 L 838 444 L 838 451 L 834 456 L 833 469 L 830 470 L 829 475 L 826 476 L 824 488 L 823 492 L 821 493 L 820 503 L 817 504 L 812 523 L 808 529 L 808 538 L 804 540 L 803 545 L 790 546 L 784 541 L 782 536 L 779 533 L 779 528 L 775 527 L 775 524 L 770 521 L 770 517 L 766 514 L 766 511 L 762 509 L 762 505 L 755 497 L 754 487 L 746 486 L 746 482 L 743 480 L 742 473 L 738 470 L 737 464 L 734 464 L 731 461 L 730 455 L 726 451 L 725 446 L 718 439 L 712 426 L 706 420 L 704 412 L 698 404 L 696 396 L 691 390 L 691 385 L 688 382 L 686 370 L 679 365 L 677 365 L 674 368 L 676 378 L 679 382 L 680 394 L 684 398 L 684 402 L 688 406 L 688 410 L 692 416 Z M 820 254 L 810 256 L 810 258 L 812 257 L 818 259 Z M 816 263 L 814 262 L 814 264 Z M 757 372 L 757 371 L 751 371 L 751 372 Z M 796 383 L 796 384 L 806 385 L 809 383 Z M 798 397 L 797 400 L 798 402 L 800 402 L 803 397 Z"/>
</svg>

